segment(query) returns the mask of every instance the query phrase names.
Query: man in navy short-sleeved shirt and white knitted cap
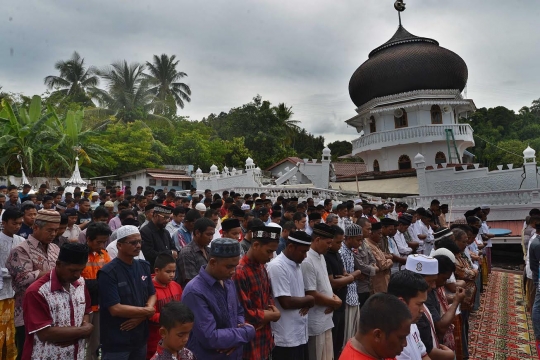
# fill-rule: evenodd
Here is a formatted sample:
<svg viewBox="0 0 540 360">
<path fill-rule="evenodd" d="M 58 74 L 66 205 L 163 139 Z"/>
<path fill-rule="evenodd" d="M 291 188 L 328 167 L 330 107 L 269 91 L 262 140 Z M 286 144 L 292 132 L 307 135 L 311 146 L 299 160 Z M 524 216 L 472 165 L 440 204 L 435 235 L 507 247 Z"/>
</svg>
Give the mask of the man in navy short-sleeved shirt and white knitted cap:
<svg viewBox="0 0 540 360">
<path fill-rule="evenodd" d="M 98 272 L 102 360 L 144 359 L 156 290 L 148 262 L 134 259 L 141 252 L 139 229 L 125 225 L 116 232 L 118 256 Z"/>
</svg>

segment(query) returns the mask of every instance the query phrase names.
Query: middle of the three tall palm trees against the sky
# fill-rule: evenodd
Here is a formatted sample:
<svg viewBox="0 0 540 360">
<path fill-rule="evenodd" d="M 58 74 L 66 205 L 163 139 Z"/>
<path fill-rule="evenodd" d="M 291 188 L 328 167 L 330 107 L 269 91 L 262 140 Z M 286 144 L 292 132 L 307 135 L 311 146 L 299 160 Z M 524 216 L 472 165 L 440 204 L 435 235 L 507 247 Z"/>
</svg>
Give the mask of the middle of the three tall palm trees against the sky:
<svg viewBox="0 0 540 360">
<path fill-rule="evenodd" d="M 170 124 L 170 120 L 151 113 L 158 102 L 150 88 L 150 81 L 143 73 L 144 70 L 144 65 L 128 65 L 125 60 L 98 70 L 97 74 L 107 82 L 107 90 L 97 87 L 90 90 L 92 98 L 102 107 L 91 111 L 114 115 L 124 122 L 148 119 L 162 120 Z"/>
</svg>

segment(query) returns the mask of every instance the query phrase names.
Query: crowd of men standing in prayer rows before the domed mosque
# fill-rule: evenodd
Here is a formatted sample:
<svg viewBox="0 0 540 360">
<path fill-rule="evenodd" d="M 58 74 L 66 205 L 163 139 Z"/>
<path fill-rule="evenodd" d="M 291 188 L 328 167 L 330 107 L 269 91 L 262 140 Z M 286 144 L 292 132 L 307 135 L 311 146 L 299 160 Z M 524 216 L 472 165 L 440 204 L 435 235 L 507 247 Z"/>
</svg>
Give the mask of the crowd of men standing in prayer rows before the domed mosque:
<svg viewBox="0 0 540 360">
<path fill-rule="evenodd" d="M 1 359 L 469 357 L 488 206 L 47 190 L 0 186 Z"/>
</svg>

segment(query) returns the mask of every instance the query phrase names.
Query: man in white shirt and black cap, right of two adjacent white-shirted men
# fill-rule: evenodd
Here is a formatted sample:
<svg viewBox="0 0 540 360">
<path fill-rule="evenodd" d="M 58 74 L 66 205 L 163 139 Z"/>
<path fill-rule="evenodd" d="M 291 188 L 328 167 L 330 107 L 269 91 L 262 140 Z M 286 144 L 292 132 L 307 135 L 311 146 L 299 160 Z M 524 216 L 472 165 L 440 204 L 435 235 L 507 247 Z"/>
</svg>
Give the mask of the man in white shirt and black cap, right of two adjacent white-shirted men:
<svg viewBox="0 0 540 360">
<path fill-rule="evenodd" d="M 339 309 L 341 299 L 332 292 L 324 254 L 332 244 L 334 229 L 318 224 L 313 229 L 313 241 L 302 262 L 302 277 L 307 295 L 313 296 L 315 306 L 308 316 L 309 359 L 331 360 L 334 357 L 332 343 L 332 312 Z"/>
</svg>

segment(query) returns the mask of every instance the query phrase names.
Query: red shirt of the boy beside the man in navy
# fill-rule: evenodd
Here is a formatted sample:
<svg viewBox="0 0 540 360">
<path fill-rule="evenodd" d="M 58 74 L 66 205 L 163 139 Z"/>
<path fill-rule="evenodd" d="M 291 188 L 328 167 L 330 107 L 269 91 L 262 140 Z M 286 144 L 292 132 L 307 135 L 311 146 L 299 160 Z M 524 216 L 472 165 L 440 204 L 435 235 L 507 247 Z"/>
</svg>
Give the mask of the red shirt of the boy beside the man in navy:
<svg viewBox="0 0 540 360">
<path fill-rule="evenodd" d="M 171 281 L 167 286 L 158 283 L 154 278 L 152 279 L 152 282 L 156 288 L 157 300 L 156 305 L 154 305 L 156 312 L 150 318 L 148 327 L 148 342 L 146 347 L 147 359 L 151 359 L 152 356 L 154 356 L 157 344 L 161 340 L 161 336 L 159 336 L 159 314 L 161 313 L 161 309 L 165 304 L 168 304 L 171 301 L 180 301 L 180 299 L 182 299 L 182 287 L 176 281 Z"/>
</svg>

